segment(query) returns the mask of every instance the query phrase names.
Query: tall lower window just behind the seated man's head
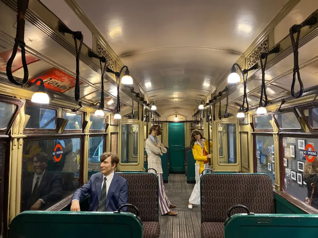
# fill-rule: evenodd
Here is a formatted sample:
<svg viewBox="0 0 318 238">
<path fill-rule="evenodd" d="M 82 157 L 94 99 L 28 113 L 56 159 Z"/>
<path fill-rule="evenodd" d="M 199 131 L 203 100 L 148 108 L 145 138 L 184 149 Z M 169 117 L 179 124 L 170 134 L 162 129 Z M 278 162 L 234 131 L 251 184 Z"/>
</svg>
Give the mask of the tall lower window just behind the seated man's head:
<svg viewBox="0 0 318 238">
<path fill-rule="evenodd" d="M 100 172 L 100 155 L 104 153 L 104 136 L 88 139 L 88 179 Z"/>
</svg>

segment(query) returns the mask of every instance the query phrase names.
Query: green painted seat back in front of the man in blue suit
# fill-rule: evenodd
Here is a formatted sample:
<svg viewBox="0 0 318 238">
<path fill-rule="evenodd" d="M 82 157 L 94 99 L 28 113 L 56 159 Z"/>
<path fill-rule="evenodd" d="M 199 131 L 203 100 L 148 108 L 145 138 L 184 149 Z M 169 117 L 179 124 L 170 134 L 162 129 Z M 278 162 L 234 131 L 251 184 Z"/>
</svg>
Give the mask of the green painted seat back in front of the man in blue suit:
<svg viewBox="0 0 318 238">
<path fill-rule="evenodd" d="M 25 211 L 9 228 L 10 238 L 142 238 L 142 224 L 128 212 Z"/>
</svg>

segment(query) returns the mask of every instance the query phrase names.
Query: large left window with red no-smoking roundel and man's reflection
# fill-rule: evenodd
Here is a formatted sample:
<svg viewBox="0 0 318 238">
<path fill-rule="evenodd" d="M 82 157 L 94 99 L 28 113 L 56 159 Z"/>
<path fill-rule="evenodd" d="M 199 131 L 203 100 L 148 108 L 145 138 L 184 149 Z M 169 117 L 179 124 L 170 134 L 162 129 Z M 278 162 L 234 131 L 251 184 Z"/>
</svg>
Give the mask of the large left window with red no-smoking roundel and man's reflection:
<svg viewBox="0 0 318 238">
<path fill-rule="evenodd" d="M 24 141 L 21 211 L 45 210 L 79 188 L 81 139 Z"/>
</svg>

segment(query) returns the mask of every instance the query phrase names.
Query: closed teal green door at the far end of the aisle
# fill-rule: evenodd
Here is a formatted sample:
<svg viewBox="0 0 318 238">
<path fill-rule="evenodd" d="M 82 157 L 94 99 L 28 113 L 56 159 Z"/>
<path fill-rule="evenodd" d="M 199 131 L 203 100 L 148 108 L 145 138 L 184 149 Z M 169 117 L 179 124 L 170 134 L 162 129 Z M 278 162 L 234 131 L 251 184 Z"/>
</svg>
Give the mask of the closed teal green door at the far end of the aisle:
<svg viewBox="0 0 318 238">
<path fill-rule="evenodd" d="M 171 173 L 184 173 L 184 123 L 169 123 L 169 161 Z"/>
</svg>

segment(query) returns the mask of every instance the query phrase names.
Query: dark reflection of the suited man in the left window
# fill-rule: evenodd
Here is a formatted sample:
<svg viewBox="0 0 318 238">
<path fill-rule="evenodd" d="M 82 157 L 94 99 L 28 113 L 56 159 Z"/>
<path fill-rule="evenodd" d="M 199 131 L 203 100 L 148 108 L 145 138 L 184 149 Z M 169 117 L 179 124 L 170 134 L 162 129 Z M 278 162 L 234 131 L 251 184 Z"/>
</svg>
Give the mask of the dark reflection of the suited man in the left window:
<svg viewBox="0 0 318 238">
<path fill-rule="evenodd" d="M 44 152 L 32 157 L 35 173 L 23 179 L 21 211 L 43 210 L 61 199 L 61 178 L 46 171 L 47 160 Z"/>
</svg>

